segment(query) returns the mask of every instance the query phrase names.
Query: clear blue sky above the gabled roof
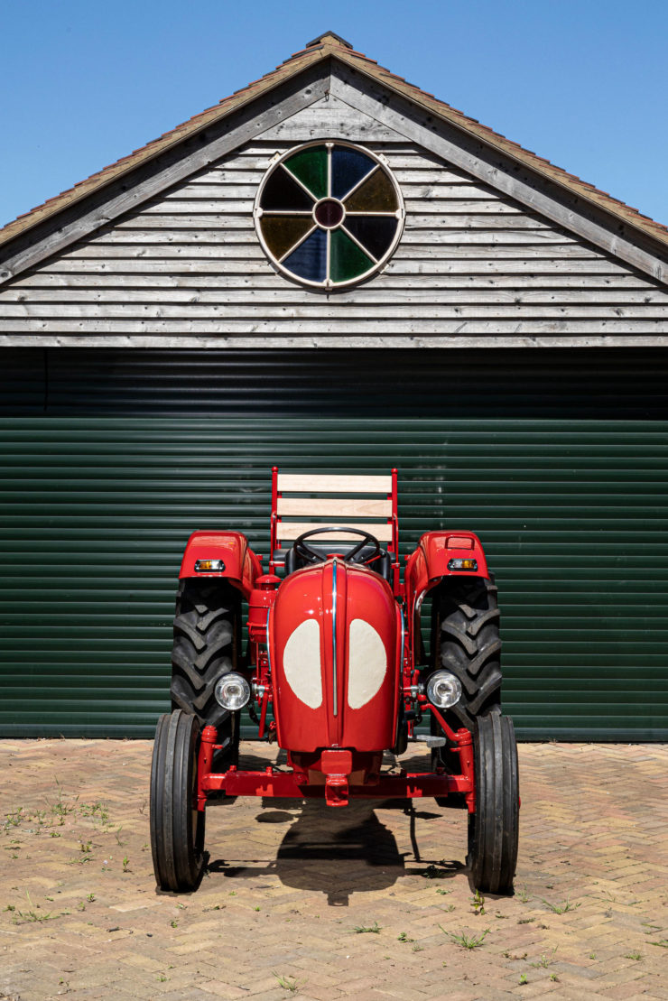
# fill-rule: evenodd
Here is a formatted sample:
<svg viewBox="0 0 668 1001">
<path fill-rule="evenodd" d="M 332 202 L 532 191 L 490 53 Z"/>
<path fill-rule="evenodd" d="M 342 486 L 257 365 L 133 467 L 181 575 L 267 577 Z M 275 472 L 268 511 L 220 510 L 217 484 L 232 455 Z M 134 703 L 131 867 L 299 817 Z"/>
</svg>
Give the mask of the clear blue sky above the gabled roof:
<svg viewBox="0 0 668 1001">
<path fill-rule="evenodd" d="M 667 0 L 1 0 L 0 225 L 330 28 L 668 223 Z"/>
</svg>

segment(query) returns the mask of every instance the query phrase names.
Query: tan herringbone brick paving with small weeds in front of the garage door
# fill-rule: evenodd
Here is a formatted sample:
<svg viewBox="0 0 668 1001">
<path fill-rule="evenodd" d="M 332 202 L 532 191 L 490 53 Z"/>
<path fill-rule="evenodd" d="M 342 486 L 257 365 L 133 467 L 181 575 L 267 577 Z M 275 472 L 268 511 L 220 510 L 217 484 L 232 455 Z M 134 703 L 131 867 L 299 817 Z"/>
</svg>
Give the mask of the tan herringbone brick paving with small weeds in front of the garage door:
<svg viewBox="0 0 668 1001">
<path fill-rule="evenodd" d="M 521 745 L 517 892 L 484 913 L 433 800 L 213 807 L 201 887 L 158 894 L 150 752 L 0 741 L 0 1001 L 668 998 L 668 747 Z"/>
</svg>

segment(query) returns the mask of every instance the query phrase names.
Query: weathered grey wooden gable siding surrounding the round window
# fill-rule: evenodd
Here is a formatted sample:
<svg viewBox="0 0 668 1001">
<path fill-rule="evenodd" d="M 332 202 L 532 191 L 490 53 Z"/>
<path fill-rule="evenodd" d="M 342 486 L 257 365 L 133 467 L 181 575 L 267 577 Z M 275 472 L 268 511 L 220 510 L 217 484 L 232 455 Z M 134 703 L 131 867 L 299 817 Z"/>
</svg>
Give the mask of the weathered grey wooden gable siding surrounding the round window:
<svg viewBox="0 0 668 1001">
<path fill-rule="evenodd" d="M 317 137 L 382 152 L 407 208 L 385 272 L 328 296 L 273 271 L 251 217 L 273 153 Z M 36 333 L 237 346 L 304 336 L 614 343 L 668 334 L 668 290 L 331 96 L 4 286 L 0 335 L 28 343 Z"/>
</svg>

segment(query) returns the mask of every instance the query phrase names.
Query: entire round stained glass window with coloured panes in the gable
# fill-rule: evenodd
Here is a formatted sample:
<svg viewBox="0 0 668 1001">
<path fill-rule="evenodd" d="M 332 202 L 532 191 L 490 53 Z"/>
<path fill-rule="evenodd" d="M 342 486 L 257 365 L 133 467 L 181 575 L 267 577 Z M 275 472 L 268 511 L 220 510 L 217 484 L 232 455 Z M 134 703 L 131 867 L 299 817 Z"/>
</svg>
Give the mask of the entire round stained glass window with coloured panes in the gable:
<svg viewBox="0 0 668 1001">
<path fill-rule="evenodd" d="M 309 142 L 264 175 L 253 209 L 260 242 L 283 274 L 316 288 L 380 270 L 399 242 L 404 202 L 385 163 L 346 142 Z"/>
</svg>

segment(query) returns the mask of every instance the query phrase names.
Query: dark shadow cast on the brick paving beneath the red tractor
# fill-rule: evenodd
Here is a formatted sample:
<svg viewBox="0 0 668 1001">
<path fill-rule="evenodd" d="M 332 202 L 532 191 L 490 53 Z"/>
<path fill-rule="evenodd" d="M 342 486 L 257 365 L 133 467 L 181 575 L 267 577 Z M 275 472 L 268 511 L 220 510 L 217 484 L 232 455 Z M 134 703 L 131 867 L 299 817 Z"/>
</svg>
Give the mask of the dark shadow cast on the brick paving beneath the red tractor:
<svg viewBox="0 0 668 1001">
<path fill-rule="evenodd" d="M 231 879 L 275 875 L 283 886 L 322 893 L 328 906 L 347 907 L 352 894 L 386 890 L 406 875 L 448 879 L 465 868 L 461 862 L 421 856 L 416 821 L 438 823 L 441 815 L 425 810 L 422 804 L 416 810 L 409 800 L 354 800 L 345 808 L 332 809 L 319 799 L 266 798 L 262 807 L 255 817 L 257 824 L 289 825 L 275 861 L 265 867 L 230 866 L 211 858 L 210 872 Z M 411 852 L 400 852 L 377 808 L 398 810 L 410 818 Z"/>
</svg>

